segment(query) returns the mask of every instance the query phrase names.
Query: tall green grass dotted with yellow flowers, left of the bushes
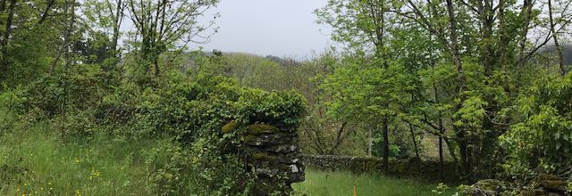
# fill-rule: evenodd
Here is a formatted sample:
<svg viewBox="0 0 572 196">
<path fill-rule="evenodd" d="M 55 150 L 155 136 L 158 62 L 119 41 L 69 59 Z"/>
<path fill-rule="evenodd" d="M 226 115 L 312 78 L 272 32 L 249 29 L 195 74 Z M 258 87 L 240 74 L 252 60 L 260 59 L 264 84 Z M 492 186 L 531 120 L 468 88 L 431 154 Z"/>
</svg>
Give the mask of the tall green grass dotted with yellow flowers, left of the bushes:
<svg viewBox="0 0 572 196">
<path fill-rule="evenodd" d="M 148 195 L 143 154 L 161 141 L 63 143 L 46 125 L 0 135 L 0 195 Z"/>
</svg>

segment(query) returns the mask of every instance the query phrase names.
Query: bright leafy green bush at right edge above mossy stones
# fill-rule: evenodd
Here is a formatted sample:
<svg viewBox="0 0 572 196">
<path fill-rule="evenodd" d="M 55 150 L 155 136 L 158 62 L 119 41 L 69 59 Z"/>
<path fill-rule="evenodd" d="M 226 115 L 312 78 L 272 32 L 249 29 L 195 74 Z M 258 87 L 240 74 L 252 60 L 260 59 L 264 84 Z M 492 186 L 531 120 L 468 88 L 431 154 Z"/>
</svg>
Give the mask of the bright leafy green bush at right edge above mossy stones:
<svg viewBox="0 0 572 196">
<path fill-rule="evenodd" d="M 510 176 L 526 178 L 540 167 L 562 172 L 572 157 L 572 75 L 546 76 L 527 89 L 518 100 L 518 123 L 501 135 L 509 152 L 505 167 Z"/>
</svg>

